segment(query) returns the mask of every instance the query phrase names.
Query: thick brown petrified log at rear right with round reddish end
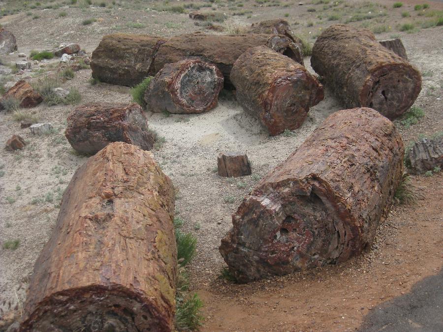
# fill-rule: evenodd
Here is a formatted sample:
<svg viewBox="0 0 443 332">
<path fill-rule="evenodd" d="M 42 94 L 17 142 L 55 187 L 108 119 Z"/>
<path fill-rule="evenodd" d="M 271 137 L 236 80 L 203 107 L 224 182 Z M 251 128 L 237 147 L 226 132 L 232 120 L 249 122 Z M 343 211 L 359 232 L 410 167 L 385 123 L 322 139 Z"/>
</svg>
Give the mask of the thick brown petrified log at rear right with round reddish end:
<svg viewBox="0 0 443 332">
<path fill-rule="evenodd" d="M 347 107 L 371 107 L 391 120 L 406 112 L 421 90 L 419 71 L 369 30 L 330 26 L 317 38 L 311 64 Z"/>
</svg>

